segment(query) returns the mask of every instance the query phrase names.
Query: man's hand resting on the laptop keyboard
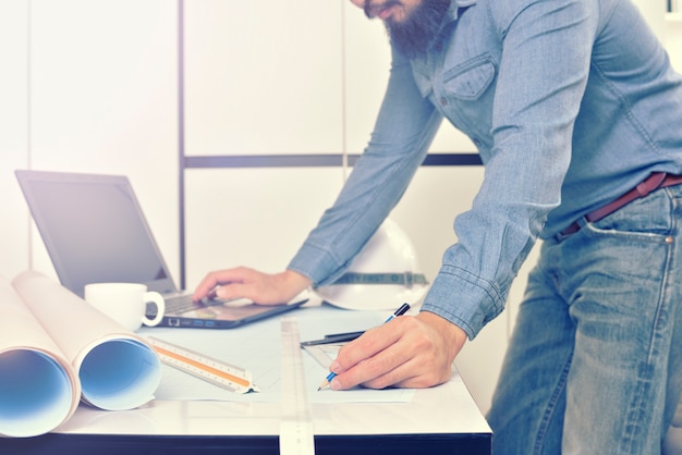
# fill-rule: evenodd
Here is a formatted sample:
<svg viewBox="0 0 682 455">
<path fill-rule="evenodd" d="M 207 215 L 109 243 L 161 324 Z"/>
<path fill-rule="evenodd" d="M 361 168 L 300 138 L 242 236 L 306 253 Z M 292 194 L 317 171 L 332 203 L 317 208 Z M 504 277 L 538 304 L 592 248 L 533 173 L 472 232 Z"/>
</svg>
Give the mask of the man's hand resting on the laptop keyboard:
<svg viewBox="0 0 682 455">
<path fill-rule="evenodd" d="M 293 270 L 270 274 L 239 267 L 208 273 L 194 291 L 193 299 L 248 298 L 260 305 L 281 305 L 309 285 L 310 280 Z"/>
</svg>

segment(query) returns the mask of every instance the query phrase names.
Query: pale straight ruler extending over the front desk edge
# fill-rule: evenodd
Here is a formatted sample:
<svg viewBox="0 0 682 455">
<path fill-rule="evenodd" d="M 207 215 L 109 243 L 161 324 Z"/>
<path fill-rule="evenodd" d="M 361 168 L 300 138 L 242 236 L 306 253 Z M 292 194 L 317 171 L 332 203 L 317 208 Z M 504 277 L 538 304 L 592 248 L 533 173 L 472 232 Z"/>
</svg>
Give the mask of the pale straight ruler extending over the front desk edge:
<svg viewBox="0 0 682 455">
<path fill-rule="evenodd" d="M 283 317 L 282 330 L 282 420 L 280 455 L 314 455 L 315 433 L 308 407 L 299 324 L 294 317 Z"/>
</svg>

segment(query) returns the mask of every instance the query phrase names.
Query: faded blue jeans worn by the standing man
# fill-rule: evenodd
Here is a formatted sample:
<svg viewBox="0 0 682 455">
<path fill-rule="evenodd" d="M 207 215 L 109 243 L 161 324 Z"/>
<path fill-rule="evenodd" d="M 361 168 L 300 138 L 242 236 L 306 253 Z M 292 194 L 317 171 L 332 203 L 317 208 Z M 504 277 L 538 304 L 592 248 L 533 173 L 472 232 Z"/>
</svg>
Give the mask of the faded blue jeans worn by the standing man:
<svg viewBox="0 0 682 455">
<path fill-rule="evenodd" d="M 545 241 L 488 420 L 500 454 L 659 454 L 682 389 L 682 186 Z"/>
</svg>

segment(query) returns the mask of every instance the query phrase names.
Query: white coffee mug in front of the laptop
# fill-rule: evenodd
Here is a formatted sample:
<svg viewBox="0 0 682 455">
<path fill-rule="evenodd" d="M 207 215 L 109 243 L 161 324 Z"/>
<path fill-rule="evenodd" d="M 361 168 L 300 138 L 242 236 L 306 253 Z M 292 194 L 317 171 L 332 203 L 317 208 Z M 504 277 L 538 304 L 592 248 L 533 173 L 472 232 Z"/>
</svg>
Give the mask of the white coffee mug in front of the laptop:
<svg viewBox="0 0 682 455">
<path fill-rule="evenodd" d="M 166 312 L 161 294 L 147 291 L 146 285 L 138 283 L 86 284 L 85 302 L 132 331 L 139 329 L 143 323 L 157 325 Z M 147 303 L 154 303 L 157 307 L 154 319 L 145 315 Z"/>
</svg>

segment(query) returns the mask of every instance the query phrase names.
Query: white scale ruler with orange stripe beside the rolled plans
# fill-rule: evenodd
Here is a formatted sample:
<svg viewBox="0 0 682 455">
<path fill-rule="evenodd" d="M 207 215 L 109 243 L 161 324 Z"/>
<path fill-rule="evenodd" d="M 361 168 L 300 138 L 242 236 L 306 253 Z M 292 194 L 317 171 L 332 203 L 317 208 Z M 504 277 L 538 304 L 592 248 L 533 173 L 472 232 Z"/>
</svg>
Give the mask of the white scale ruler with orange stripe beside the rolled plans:
<svg viewBox="0 0 682 455">
<path fill-rule="evenodd" d="M 159 359 L 180 371 L 208 381 L 231 392 L 244 394 L 257 391 L 252 381 L 251 371 L 196 353 L 154 336 L 146 339 L 154 347 Z"/>
</svg>

